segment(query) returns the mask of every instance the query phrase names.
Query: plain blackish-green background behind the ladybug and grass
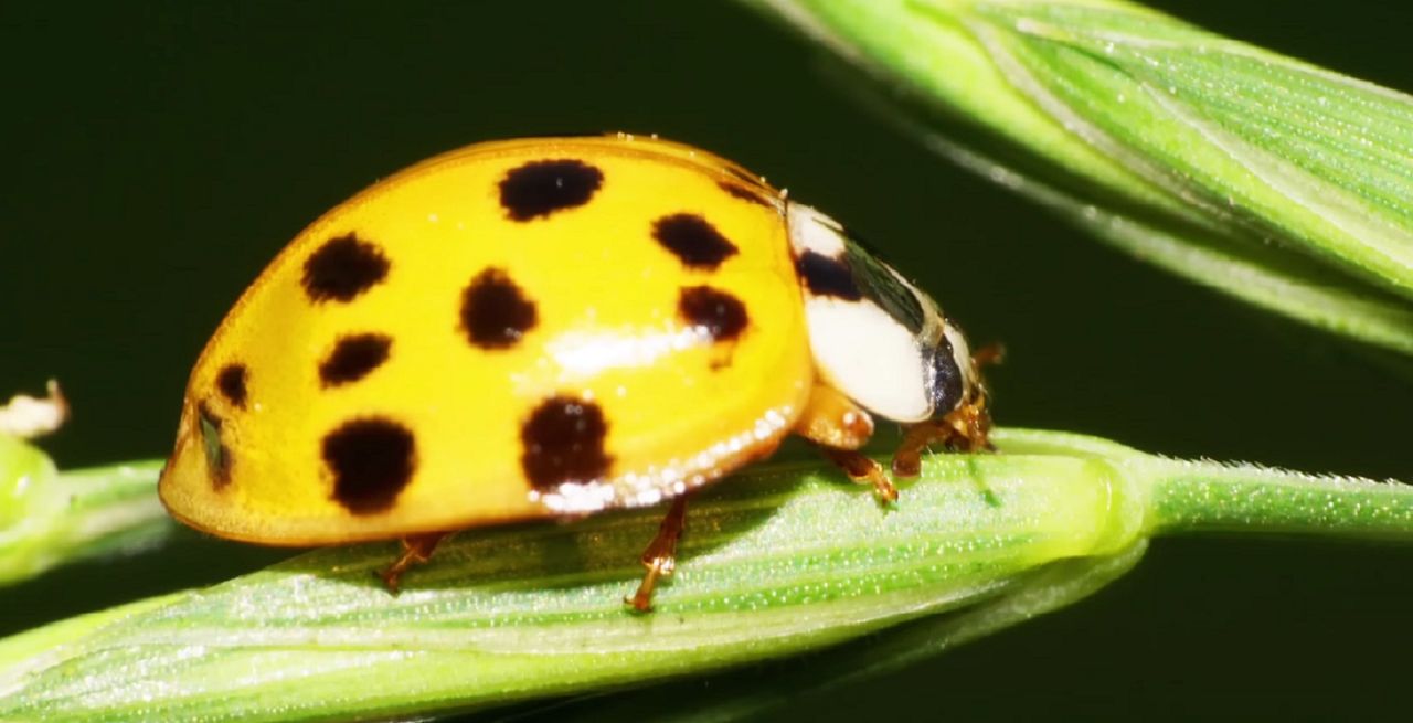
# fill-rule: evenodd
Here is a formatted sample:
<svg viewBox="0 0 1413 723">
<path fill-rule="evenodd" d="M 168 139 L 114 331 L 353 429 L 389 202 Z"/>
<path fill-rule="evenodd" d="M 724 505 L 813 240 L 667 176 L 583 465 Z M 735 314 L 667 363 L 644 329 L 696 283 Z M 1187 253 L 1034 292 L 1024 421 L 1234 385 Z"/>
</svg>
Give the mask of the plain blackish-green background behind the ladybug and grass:
<svg viewBox="0 0 1413 723">
<path fill-rule="evenodd" d="M 1413 480 L 1406 378 L 928 157 L 736 4 L 17 6 L 0 10 L 0 397 L 64 381 L 76 414 L 47 443 L 64 466 L 164 455 L 229 304 L 352 192 L 480 140 L 629 130 L 766 174 L 882 247 L 974 340 L 1005 340 L 1002 424 Z M 1413 89 L 1409 10 L 1159 6 Z M 57 570 L 3 593 L 0 634 L 283 555 L 191 537 Z M 1406 719 L 1410 563 L 1413 546 L 1159 539 L 1081 604 L 793 713 Z"/>
</svg>

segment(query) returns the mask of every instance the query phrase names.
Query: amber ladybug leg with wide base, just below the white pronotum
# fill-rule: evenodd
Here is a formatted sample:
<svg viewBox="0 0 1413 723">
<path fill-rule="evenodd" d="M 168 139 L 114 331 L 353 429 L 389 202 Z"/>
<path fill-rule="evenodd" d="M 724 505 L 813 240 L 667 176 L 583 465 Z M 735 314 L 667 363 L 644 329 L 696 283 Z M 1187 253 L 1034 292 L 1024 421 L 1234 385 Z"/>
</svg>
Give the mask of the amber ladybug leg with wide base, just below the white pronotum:
<svg viewBox="0 0 1413 723">
<path fill-rule="evenodd" d="M 820 453 L 838 465 L 851 480 L 872 484 L 879 500 L 897 500 L 897 487 L 883 467 L 859 452 L 873 436 L 873 418 L 839 390 L 815 384 L 796 434 L 814 442 Z"/>
</svg>

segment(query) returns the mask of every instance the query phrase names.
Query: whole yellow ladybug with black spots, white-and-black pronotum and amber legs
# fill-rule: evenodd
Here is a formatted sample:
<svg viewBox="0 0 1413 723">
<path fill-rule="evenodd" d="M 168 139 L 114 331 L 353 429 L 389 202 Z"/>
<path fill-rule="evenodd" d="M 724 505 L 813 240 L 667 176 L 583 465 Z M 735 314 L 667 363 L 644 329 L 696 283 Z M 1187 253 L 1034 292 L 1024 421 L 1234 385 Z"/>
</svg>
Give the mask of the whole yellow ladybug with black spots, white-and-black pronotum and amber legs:
<svg viewBox="0 0 1413 723">
<path fill-rule="evenodd" d="M 673 570 L 685 494 L 788 434 L 896 498 L 872 417 L 986 445 L 961 332 L 844 229 L 657 138 L 485 143 L 284 249 L 192 370 L 161 498 L 266 545 L 401 538 L 673 500 L 629 600 Z"/>
</svg>

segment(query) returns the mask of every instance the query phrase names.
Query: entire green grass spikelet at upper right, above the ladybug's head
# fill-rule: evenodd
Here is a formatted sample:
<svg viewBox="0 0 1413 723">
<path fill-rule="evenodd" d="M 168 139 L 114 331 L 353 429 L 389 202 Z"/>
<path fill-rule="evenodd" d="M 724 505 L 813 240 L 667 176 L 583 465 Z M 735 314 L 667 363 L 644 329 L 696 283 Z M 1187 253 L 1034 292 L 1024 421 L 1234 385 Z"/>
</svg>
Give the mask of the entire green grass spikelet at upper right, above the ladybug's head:
<svg viewBox="0 0 1413 723">
<path fill-rule="evenodd" d="M 1413 354 L 1413 99 L 1118 0 L 752 0 L 1109 243 Z M 1005 158 L 1005 161 L 1000 161 Z"/>
</svg>

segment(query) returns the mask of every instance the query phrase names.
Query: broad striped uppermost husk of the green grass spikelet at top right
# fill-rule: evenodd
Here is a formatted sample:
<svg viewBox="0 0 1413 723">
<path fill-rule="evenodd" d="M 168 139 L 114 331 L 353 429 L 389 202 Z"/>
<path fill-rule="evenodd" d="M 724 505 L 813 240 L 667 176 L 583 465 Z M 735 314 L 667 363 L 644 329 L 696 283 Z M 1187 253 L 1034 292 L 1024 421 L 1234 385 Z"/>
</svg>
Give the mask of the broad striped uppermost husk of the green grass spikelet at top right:
<svg viewBox="0 0 1413 723">
<path fill-rule="evenodd" d="M 1012 82 L 1085 143 L 1212 217 L 1413 298 L 1409 96 L 1152 13 L 972 7 Z"/>
</svg>

